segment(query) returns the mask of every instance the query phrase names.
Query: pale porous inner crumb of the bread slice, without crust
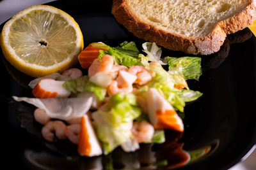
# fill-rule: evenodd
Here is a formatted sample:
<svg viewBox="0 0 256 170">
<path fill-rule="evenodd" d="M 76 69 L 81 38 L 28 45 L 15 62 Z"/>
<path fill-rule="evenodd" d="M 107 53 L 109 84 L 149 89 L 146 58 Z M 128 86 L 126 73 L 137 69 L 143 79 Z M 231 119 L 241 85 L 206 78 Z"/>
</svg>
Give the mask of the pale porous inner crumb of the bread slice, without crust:
<svg viewBox="0 0 256 170">
<path fill-rule="evenodd" d="M 241 12 L 246 0 L 129 0 L 128 5 L 137 17 L 148 24 L 182 36 L 206 36 L 221 20 Z"/>
</svg>

